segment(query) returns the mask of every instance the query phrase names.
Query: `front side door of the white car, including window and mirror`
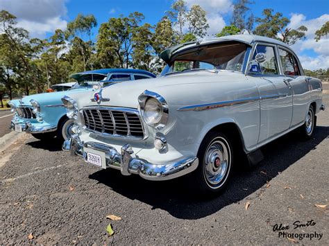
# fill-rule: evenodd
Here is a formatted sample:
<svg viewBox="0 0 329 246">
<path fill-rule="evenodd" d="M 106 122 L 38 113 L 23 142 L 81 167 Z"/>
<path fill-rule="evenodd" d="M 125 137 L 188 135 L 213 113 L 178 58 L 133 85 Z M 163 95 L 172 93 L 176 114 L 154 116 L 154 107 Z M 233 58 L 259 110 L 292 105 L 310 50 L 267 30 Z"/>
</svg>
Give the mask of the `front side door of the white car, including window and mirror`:
<svg viewBox="0 0 329 246">
<path fill-rule="evenodd" d="M 263 53 L 264 61 L 256 62 L 256 55 Z M 289 129 L 292 121 L 292 88 L 282 74 L 275 45 L 256 44 L 249 75 L 259 76 L 260 134 L 262 143 Z"/>
</svg>

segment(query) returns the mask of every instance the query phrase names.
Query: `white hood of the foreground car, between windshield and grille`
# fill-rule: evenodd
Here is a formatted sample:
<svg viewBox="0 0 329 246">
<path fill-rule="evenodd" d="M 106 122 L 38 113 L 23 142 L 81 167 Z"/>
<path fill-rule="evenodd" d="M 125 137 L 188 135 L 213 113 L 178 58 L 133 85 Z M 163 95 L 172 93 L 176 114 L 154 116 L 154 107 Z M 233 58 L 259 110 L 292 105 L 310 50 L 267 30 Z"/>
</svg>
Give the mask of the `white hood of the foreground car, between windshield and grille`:
<svg viewBox="0 0 329 246">
<path fill-rule="evenodd" d="M 101 102 L 100 105 L 137 108 L 137 98 L 145 90 L 160 94 L 167 100 L 167 103 L 177 104 L 180 98 L 183 97 L 185 103 L 189 103 L 189 101 L 195 101 L 195 98 L 188 98 L 186 91 L 189 91 L 189 95 L 207 97 L 211 95 L 214 83 L 223 83 L 224 91 L 228 87 L 233 87 L 235 81 L 245 79 L 246 76 L 243 73 L 237 72 L 219 71 L 219 73 L 214 73 L 210 71 L 195 71 L 174 73 L 147 80 L 131 80 L 103 89 L 102 97 L 110 98 L 110 101 Z M 86 100 L 86 97 L 88 100 Z M 86 93 L 83 98 L 74 96 L 74 100 L 77 101 L 79 107 L 94 106 L 97 103 L 91 102 L 90 98 L 93 97 L 94 93 Z"/>
</svg>

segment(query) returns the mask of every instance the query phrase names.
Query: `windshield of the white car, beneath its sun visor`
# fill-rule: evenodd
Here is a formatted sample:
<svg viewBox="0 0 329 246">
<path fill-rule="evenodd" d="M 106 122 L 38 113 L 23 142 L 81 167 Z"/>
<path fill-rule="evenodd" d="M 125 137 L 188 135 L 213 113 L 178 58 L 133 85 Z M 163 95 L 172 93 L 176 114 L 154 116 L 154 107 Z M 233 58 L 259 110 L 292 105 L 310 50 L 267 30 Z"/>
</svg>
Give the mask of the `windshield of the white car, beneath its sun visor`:
<svg viewBox="0 0 329 246">
<path fill-rule="evenodd" d="M 182 51 L 171 58 L 171 62 L 162 71 L 161 76 L 168 73 L 197 70 L 229 70 L 242 71 L 246 44 L 210 44 Z"/>
</svg>

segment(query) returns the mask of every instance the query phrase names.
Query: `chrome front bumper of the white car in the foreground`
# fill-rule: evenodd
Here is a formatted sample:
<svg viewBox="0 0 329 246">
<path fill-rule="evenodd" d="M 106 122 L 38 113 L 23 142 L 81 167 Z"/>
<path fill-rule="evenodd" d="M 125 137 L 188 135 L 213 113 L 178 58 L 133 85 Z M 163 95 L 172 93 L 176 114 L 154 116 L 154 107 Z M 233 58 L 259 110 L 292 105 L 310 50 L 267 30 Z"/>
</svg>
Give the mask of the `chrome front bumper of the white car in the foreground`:
<svg viewBox="0 0 329 246">
<path fill-rule="evenodd" d="M 121 170 L 122 175 L 133 173 L 149 180 L 174 179 L 196 170 L 199 165 L 197 157 L 185 157 L 169 164 L 151 164 L 136 157 L 129 144 L 122 146 L 121 153 L 119 153 L 115 148 L 103 143 L 87 142 L 82 144 L 78 137 L 65 141 L 62 150 L 70 151 L 71 155 L 78 155 L 86 161 L 87 155 L 83 150 L 84 147 L 105 152 L 106 167 Z"/>
</svg>

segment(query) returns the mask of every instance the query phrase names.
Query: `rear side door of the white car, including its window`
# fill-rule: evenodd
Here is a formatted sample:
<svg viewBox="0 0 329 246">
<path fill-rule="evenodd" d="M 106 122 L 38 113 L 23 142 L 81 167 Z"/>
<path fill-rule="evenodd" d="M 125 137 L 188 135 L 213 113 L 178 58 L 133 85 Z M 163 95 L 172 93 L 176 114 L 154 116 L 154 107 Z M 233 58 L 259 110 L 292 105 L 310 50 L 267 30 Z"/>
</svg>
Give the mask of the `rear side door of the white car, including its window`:
<svg viewBox="0 0 329 246">
<path fill-rule="evenodd" d="M 305 121 L 311 98 L 310 81 L 303 76 L 298 60 L 291 51 L 279 46 L 278 52 L 282 73 L 285 75 L 286 81 L 292 86 L 294 110 L 290 127 L 294 127 Z"/>
</svg>

